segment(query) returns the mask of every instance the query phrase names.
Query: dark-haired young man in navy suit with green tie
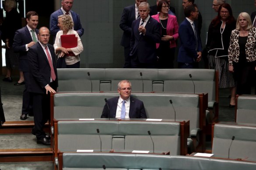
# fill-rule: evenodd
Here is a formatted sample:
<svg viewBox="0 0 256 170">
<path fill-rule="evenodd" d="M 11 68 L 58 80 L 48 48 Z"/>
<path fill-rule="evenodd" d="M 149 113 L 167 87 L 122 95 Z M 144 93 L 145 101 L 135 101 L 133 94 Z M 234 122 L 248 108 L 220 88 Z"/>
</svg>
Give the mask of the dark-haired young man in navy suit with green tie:
<svg viewBox="0 0 256 170">
<path fill-rule="evenodd" d="M 29 76 L 28 76 L 28 49 L 36 44 L 38 29 L 38 14 L 35 11 L 29 11 L 26 14 L 27 25 L 15 32 L 13 49 L 18 52 L 19 69 L 23 72 L 25 80 L 25 90 L 23 91 L 21 120 L 27 119 L 28 114 L 32 114 L 32 97 L 28 92 Z"/>
</svg>

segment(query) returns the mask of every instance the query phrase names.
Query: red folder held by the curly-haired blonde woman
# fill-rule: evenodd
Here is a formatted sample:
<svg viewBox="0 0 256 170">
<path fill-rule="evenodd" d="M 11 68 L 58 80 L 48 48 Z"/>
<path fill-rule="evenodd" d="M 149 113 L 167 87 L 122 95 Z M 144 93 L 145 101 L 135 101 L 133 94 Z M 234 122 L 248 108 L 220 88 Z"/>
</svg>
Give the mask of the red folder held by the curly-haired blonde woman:
<svg viewBox="0 0 256 170">
<path fill-rule="evenodd" d="M 66 49 L 77 47 L 77 37 L 75 34 L 60 35 L 61 47 Z M 69 52 L 68 56 L 75 56 L 73 52 Z"/>
</svg>

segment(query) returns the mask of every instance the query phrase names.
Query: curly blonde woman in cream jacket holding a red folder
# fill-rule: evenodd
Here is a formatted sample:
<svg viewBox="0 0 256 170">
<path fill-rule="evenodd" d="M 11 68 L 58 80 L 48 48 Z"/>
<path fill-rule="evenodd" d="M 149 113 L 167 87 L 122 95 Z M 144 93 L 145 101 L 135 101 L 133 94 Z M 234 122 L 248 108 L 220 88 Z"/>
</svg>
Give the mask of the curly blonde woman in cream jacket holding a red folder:
<svg viewBox="0 0 256 170">
<path fill-rule="evenodd" d="M 81 39 L 76 31 L 73 30 L 73 21 L 69 15 L 60 15 L 58 17 L 58 27 L 60 27 L 60 31 L 57 32 L 54 50 L 56 55 L 59 58 L 64 57 L 65 63 L 58 64 L 58 68 L 79 68 L 80 67 L 80 58 L 79 54 L 83 51 L 83 45 Z M 64 48 L 61 46 L 60 36 L 61 35 L 71 35 L 74 34 L 77 37 L 77 47 L 74 48 Z M 69 55 L 73 53 L 74 55 Z"/>
</svg>

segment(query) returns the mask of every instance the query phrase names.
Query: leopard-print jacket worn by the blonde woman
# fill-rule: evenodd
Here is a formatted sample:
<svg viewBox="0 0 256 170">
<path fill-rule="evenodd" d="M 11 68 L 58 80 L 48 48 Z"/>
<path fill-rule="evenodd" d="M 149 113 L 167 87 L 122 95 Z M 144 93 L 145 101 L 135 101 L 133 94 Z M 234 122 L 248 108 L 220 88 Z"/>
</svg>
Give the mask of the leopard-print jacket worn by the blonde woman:
<svg viewBox="0 0 256 170">
<path fill-rule="evenodd" d="M 230 45 L 228 48 L 228 65 L 232 66 L 233 62 L 239 60 L 239 44 L 238 44 L 239 31 L 237 29 L 231 32 Z M 252 62 L 256 60 L 256 28 L 249 30 L 247 42 L 245 45 L 246 61 Z"/>
</svg>

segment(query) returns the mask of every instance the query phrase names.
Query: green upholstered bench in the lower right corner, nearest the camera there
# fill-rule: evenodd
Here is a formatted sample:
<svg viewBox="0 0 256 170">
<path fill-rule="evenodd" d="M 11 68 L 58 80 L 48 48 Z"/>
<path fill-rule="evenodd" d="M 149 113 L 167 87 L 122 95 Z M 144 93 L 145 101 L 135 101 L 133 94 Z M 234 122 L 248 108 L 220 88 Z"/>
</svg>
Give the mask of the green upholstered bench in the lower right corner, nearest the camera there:
<svg viewBox="0 0 256 170">
<path fill-rule="evenodd" d="M 213 128 L 214 157 L 256 161 L 256 124 L 244 124 L 234 122 L 220 122 Z M 235 136 L 231 144 L 232 136 Z"/>
</svg>

